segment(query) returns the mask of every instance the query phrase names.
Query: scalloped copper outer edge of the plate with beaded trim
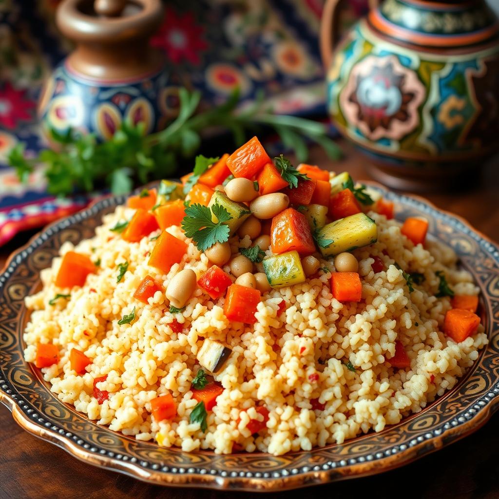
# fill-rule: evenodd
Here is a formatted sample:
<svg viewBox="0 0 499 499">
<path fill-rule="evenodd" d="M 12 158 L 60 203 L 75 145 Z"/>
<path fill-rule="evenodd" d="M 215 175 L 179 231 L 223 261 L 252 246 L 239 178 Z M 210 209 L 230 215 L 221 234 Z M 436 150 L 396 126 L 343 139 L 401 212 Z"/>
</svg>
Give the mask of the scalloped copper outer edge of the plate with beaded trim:
<svg viewBox="0 0 499 499">
<path fill-rule="evenodd" d="M 490 247 L 488 249 L 489 252 L 491 252 L 499 262 L 499 246 L 481 231 L 473 228 L 473 226 L 463 217 L 446 210 L 441 210 L 433 203 L 420 196 L 394 193 L 384 186 L 372 181 L 366 183 L 382 192 L 387 199 L 394 200 L 403 205 L 409 204 L 413 207 L 417 206 L 420 210 L 422 209 L 422 211 L 426 211 L 427 213 L 436 212 L 441 216 L 443 215 L 456 220 L 466 230 L 465 233 L 472 237 L 475 235 L 473 239 L 477 243 L 487 243 Z M 94 212 L 98 213 L 105 208 L 116 206 L 121 204 L 124 200 L 125 196 L 108 195 L 101 197 L 100 199 L 94 200 L 84 210 L 51 223 L 35 236 L 31 237 L 24 246 L 13 251 L 7 258 L 0 274 L 0 289 L 9 276 L 10 268 L 14 270 L 15 266 L 23 261 L 23 258 L 27 254 L 35 251 L 38 246 L 54 234 L 55 228 L 57 231 L 66 229 L 76 222 L 92 217 L 95 215 Z M 462 229 L 460 229 L 460 231 L 461 230 Z M 23 253 L 24 257 L 21 256 Z M 479 360 L 480 359 L 477 359 L 476 362 Z M 442 428 L 422 430 L 421 434 L 410 440 L 407 445 L 389 444 L 386 446 L 384 452 L 376 452 L 357 458 L 330 461 L 322 465 L 304 466 L 301 467 L 301 469 L 283 468 L 273 472 L 236 473 L 224 470 L 195 468 L 194 466 L 188 468 L 182 468 L 182 466 L 167 466 L 161 468 L 157 464 L 152 465 L 147 461 L 140 461 L 136 458 L 128 459 L 127 456 L 114 455 L 114 453 L 106 452 L 105 449 L 98 449 L 96 445 L 84 443 L 77 435 L 66 432 L 64 429 L 59 428 L 54 424 L 45 422 L 36 411 L 29 409 L 29 406 L 24 403 L 25 401 L 21 396 L 12 393 L 7 381 L 3 378 L 3 371 L 0 369 L 0 402 L 12 412 L 14 421 L 28 433 L 55 444 L 80 461 L 100 468 L 124 473 L 147 483 L 175 487 L 212 488 L 221 490 L 275 492 L 277 490 L 289 490 L 311 485 L 320 485 L 336 480 L 373 475 L 388 471 L 420 459 L 427 454 L 435 452 L 444 446 L 470 435 L 487 423 L 491 416 L 499 409 L 499 382 L 497 382 L 493 389 L 477 400 L 468 411 L 459 412 L 452 420 L 446 422 Z M 445 395 L 443 397 L 445 397 Z M 442 399 L 443 397 L 439 397 L 437 400 Z M 25 412 L 22 409 L 24 409 Z M 40 421 L 40 419 L 42 421 Z M 406 419 L 407 418 L 404 418 L 402 421 Z M 293 454 L 305 454 L 305 451 L 299 451 L 298 453 Z M 264 453 L 261 453 L 261 455 L 268 456 Z"/>
</svg>

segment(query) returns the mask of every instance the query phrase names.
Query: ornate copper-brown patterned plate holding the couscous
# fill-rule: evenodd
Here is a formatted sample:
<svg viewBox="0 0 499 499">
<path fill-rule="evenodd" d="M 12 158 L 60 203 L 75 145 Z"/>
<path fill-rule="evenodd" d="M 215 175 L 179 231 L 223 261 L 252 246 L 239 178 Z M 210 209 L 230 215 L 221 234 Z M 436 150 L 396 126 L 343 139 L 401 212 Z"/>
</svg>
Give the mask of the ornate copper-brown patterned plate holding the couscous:
<svg viewBox="0 0 499 499">
<path fill-rule="evenodd" d="M 376 189 L 396 202 L 401 218 L 426 217 L 430 234 L 457 251 L 481 288 L 480 311 L 491 339 L 461 382 L 419 414 L 380 433 L 311 452 L 219 456 L 136 441 L 60 402 L 39 372 L 23 360 L 23 298 L 39 286 L 39 271 L 50 264 L 62 243 L 92 236 L 102 215 L 122 203 L 122 197 L 103 199 L 49 226 L 9 258 L 0 275 L 0 400 L 24 429 L 76 458 L 161 485 L 267 491 L 304 487 L 402 466 L 469 435 L 490 418 L 499 402 L 499 248 L 464 220 L 422 199 Z"/>
</svg>

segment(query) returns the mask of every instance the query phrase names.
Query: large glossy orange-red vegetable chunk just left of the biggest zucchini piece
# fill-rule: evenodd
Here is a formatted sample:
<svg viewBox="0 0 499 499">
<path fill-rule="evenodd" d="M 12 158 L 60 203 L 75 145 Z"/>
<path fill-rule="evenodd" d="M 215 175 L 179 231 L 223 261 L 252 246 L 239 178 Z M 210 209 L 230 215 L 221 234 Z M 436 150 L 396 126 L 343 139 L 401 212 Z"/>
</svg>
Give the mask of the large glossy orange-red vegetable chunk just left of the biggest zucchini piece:
<svg viewBox="0 0 499 499">
<path fill-rule="evenodd" d="M 273 217 L 270 243 L 274 254 L 292 250 L 300 255 L 315 252 L 310 224 L 305 215 L 293 208 L 287 208 Z"/>
</svg>

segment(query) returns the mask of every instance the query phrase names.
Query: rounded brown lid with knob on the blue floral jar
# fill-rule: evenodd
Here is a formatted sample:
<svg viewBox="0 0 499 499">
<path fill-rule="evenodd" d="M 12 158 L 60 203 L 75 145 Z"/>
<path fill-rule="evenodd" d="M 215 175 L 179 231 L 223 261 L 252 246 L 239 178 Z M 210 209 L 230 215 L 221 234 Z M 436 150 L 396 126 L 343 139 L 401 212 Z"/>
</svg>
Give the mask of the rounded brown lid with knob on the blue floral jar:
<svg viewBox="0 0 499 499">
<path fill-rule="evenodd" d="M 160 0 L 64 0 L 56 14 L 68 38 L 113 44 L 151 36 L 162 18 Z"/>
</svg>

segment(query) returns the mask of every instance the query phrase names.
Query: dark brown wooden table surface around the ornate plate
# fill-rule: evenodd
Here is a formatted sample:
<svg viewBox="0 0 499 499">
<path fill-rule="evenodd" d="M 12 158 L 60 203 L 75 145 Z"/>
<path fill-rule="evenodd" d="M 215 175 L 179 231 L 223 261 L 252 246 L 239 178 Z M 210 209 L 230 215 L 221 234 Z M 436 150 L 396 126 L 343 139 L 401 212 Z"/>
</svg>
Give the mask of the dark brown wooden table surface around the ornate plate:
<svg viewBox="0 0 499 499">
<path fill-rule="evenodd" d="M 355 179 L 369 179 L 368 162 L 344 145 L 346 157 L 331 164 L 318 149 L 310 162 L 323 168 L 349 170 Z M 469 191 L 428 194 L 437 207 L 466 218 L 489 238 L 499 241 L 499 158 L 490 160 Z M 32 233 L 31 233 L 32 235 Z M 20 235 L 0 249 L 0 263 L 27 241 Z M 472 436 L 398 470 L 378 476 L 338 482 L 309 490 L 273 494 L 299 498 L 304 494 L 330 498 L 499 498 L 499 414 Z M 246 497 L 256 497 L 247 494 Z M 241 493 L 150 486 L 124 475 L 91 467 L 61 449 L 21 430 L 0 404 L 1 499 L 141 499 L 224 498 Z M 260 496 L 261 497 L 261 496 Z"/>
</svg>

